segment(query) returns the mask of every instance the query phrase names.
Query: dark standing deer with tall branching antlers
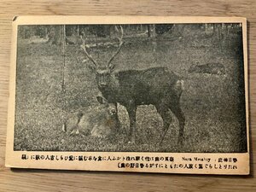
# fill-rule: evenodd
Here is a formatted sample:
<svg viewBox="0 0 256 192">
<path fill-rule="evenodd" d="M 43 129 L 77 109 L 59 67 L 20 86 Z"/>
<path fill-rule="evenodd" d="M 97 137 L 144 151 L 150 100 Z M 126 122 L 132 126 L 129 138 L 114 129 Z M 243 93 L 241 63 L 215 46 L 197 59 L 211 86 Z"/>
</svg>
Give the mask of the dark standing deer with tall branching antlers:
<svg viewBox="0 0 256 192">
<path fill-rule="evenodd" d="M 163 119 L 164 134 L 172 123 L 170 110 L 179 122 L 178 142 L 183 142 L 183 129 L 185 118 L 180 108 L 180 96 L 183 92 L 183 80 L 175 73 L 170 72 L 166 67 L 152 67 L 145 70 L 125 70 L 114 71 L 115 65 L 111 64 L 113 58 L 118 55 L 124 42 L 123 28 L 120 26 L 121 37 L 119 38 L 119 48 L 107 62 L 106 67 L 100 67 L 98 63 L 87 52 L 84 39 L 81 37 L 84 50 L 90 61 L 94 64 L 90 66 L 96 73 L 98 89 L 102 92 L 108 102 L 119 102 L 123 105 L 130 119 L 129 141 L 135 142 L 136 111 L 139 105 L 152 104 L 160 113 Z"/>
</svg>

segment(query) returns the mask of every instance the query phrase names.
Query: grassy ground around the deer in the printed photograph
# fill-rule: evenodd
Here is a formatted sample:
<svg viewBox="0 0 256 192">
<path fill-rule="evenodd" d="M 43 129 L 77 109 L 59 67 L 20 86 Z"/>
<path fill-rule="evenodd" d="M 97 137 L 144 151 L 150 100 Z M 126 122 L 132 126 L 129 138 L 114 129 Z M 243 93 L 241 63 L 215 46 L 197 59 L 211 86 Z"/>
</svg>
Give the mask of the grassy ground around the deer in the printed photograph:
<svg viewBox="0 0 256 192">
<path fill-rule="evenodd" d="M 189 29 L 188 29 L 189 30 Z M 177 145 L 178 123 L 173 123 L 159 146 L 162 119 L 154 106 L 137 110 L 137 144 L 125 143 L 129 127 L 128 114 L 119 105 L 122 127 L 111 139 L 67 136 L 61 125 L 68 114 L 78 108 L 98 105 L 95 75 L 86 63 L 76 60 L 73 46 L 67 46 L 65 62 L 65 92 L 62 90 L 63 58 L 61 47 L 49 44 L 26 44 L 20 39 L 16 80 L 15 150 L 61 151 L 163 151 L 163 152 L 239 152 L 244 150 L 241 135 L 244 112 L 239 103 L 239 37 L 230 32 L 219 41 L 204 30 L 169 33 L 156 41 L 126 39 L 126 44 L 113 61 L 117 70 L 144 69 L 164 66 L 185 80 L 181 105 L 186 117 L 183 146 Z M 90 49 L 102 64 L 108 61 L 114 48 Z M 222 63 L 226 75 L 188 73 L 192 64 Z"/>
</svg>

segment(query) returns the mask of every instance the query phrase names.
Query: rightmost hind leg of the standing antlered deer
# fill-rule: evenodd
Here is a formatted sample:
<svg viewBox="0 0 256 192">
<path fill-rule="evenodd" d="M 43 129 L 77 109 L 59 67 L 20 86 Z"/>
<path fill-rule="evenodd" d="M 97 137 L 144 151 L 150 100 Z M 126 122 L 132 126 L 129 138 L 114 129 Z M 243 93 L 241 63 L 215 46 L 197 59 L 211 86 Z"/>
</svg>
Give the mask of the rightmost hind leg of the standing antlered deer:
<svg viewBox="0 0 256 192">
<path fill-rule="evenodd" d="M 177 117 L 179 123 L 179 135 L 178 135 L 178 143 L 183 143 L 183 131 L 185 125 L 185 116 L 183 114 L 182 109 L 180 108 L 180 104 L 178 100 L 172 100 L 171 104 L 169 105 L 172 113 Z"/>
</svg>

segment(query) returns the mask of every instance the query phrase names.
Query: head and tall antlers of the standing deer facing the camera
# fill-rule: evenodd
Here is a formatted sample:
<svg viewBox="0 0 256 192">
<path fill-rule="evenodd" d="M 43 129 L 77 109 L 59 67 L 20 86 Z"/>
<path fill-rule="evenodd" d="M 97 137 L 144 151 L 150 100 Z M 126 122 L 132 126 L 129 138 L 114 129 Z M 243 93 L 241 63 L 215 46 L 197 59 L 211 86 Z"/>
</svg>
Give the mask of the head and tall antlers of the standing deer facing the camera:
<svg viewBox="0 0 256 192">
<path fill-rule="evenodd" d="M 82 37 L 80 37 L 82 39 L 83 44 L 81 45 L 81 48 L 84 50 L 84 55 L 86 57 L 88 57 L 88 59 L 92 62 L 92 66 L 90 66 L 90 68 L 96 73 L 96 81 L 97 81 L 97 85 L 100 89 L 104 89 L 108 87 L 108 84 L 111 81 L 111 73 L 113 73 L 113 69 L 115 67 L 115 65 L 111 64 L 111 62 L 113 61 L 113 58 L 118 55 L 122 45 L 124 44 L 124 42 L 122 41 L 123 39 L 123 35 L 124 35 L 124 31 L 123 31 L 123 27 L 120 27 L 120 38 L 119 39 L 119 45 L 118 45 L 118 49 L 117 51 L 112 55 L 112 57 L 110 58 L 110 60 L 107 62 L 107 64 L 104 67 L 99 66 L 99 64 L 92 58 L 92 56 L 87 52 L 86 50 L 86 46 L 85 46 L 85 41 Z M 117 26 L 115 26 L 115 30 L 119 32 L 119 29 L 117 28 Z"/>
</svg>

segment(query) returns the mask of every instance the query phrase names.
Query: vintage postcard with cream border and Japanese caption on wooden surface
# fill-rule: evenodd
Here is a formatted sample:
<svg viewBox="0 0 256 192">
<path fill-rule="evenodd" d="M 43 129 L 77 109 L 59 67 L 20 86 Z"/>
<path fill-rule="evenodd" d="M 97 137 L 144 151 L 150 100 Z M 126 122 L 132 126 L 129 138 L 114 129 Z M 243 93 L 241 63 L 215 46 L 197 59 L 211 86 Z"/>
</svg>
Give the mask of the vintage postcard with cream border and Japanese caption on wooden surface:
<svg viewBox="0 0 256 192">
<path fill-rule="evenodd" d="M 18 16 L 6 166 L 247 175 L 247 20 Z"/>
</svg>

